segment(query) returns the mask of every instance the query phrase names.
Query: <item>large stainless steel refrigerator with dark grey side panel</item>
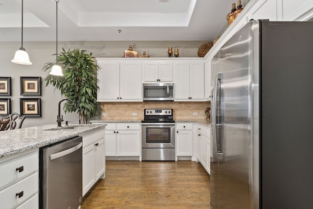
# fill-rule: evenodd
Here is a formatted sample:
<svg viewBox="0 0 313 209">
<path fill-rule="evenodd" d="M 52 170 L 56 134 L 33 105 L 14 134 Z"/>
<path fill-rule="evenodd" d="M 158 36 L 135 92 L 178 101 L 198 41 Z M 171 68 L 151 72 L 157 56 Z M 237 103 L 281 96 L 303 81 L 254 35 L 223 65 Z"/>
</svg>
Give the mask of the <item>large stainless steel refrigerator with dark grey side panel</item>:
<svg viewBox="0 0 313 209">
<path fill-rule="evenodd" d="M 250 21 L 211 78 L 212 209 L 311 209 L 313 22 Z"/>
</svg>

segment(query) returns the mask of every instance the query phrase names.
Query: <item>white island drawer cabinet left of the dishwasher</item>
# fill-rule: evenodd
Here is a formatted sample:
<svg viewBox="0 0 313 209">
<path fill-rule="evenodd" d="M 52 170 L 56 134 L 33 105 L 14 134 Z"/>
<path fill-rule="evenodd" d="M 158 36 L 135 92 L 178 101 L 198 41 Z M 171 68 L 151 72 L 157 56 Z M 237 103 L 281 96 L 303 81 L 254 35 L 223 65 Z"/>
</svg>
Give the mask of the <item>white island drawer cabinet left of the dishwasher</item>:
<svg viewBox="0 0 313 209">
<path fill-rule="evenodd" d="M 38 209 L 39 150 L 0 160 L 0 208 Z"/>
</svg>

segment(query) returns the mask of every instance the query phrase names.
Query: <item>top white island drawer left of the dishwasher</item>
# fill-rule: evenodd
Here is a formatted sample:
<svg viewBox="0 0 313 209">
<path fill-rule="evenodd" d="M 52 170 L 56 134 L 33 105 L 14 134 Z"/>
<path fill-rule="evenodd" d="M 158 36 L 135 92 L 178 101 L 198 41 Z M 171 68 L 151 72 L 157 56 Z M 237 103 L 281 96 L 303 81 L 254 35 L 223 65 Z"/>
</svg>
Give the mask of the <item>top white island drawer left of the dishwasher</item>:
<svg viewBox="0 0 313 209">
<path fill-rule="evenodd" d="M 39 155 L 38 151 L 30 153 L 25 156 L 10 160 L 5 163 L 0 164 L 1 178 L 0 178 L 0 188 L 13 183 L 19 179 L 22 179 L 24 176 L 38 170 L 39 166 Z M 21 172 L 16 170 L 21 168 Z"/>
</svg>

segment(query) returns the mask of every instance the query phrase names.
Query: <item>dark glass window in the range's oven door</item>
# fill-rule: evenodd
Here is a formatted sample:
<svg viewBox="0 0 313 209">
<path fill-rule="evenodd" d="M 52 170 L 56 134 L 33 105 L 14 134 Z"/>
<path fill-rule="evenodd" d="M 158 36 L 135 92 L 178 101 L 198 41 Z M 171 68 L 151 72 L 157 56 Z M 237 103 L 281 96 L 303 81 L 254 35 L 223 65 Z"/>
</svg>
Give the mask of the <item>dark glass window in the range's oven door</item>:
<svg viewBox="0 0 313 209">
<path fill-rule="evenodd" d="M 146 143 L 171 143 L 171 128 L 146 128 Z"/>
</svg>

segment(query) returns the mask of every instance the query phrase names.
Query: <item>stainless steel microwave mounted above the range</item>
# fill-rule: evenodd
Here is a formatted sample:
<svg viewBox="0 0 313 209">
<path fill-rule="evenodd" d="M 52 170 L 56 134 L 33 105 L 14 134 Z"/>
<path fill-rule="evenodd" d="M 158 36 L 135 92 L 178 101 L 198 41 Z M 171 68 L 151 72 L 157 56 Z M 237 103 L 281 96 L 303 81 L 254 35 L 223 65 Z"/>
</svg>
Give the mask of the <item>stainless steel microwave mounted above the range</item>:
<svg viewBox="0 0 313 209">
<path fill-rule="evenodd" d="M 174 101 L 174 84 L 144 83 L 143 101 Z"/>
</svg>

